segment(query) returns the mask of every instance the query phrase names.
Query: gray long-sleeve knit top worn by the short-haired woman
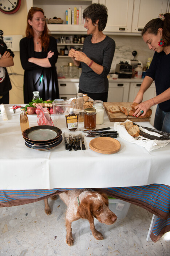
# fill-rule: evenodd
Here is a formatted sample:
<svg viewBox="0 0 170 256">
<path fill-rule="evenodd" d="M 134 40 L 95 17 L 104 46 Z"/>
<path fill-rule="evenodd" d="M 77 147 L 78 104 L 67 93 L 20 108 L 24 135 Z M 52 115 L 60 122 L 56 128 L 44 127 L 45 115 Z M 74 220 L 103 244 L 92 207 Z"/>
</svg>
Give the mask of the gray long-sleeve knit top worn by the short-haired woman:
<svg viewBox="0 0 170 256">
<path fill-rule="evenodd" d="M 87 93 L 105 93 L 108 91 L 107 75 L 115 52 L 115 41 L 106 36 L 103 41 L 92 44 L 91 38 L 92 35 L 89 35 L 84 40 L 82 52 L 95 63 L 102 65 L 103 72 L 98 75 L 84 62 L 81 62 L 79 67 L 82 67 L 82 74 L 79 88 Z"/>
</svg>

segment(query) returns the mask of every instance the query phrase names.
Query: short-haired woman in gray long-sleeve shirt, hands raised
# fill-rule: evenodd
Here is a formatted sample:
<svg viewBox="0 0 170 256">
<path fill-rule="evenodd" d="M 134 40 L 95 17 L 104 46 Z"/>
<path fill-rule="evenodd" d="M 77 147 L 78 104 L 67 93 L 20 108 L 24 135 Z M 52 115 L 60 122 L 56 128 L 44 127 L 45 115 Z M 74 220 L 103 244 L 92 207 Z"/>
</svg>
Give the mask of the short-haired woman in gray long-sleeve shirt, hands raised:
<svg viewBox="0 0 170 256">
<path fill-rule="evenodd" d="M 82 67 L 79 93 L 87 93 L 96 100 L 107 101 L 108 79 L 115 52 L 115 41 L 103 34 L 107 23 L 107 8 L 102 4 L 91 4 L 83 12 L 84 27 L 88 36 L 82 52 L 71 49 L 68 56 L 77 67 Z"/>
</svg>

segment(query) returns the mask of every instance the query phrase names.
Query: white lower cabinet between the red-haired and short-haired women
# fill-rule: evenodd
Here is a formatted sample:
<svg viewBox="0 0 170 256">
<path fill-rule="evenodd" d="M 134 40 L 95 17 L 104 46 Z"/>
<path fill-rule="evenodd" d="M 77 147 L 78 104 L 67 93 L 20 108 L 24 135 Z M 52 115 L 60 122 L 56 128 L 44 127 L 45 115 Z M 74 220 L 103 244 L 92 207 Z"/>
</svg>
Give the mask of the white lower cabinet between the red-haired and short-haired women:
<svg viewBox="0 0 170 256">
<path fill-rule="evenodd" d="M 69 82 L 70 80 L 67 79 L 62 80 L 64 81 L 58 79 L 60 99 L 68 100 L 76 97 L 76 93 L 79 90 L 79 80 L 75 79 L 77 80 L 76 82 Z"/>
</svg>

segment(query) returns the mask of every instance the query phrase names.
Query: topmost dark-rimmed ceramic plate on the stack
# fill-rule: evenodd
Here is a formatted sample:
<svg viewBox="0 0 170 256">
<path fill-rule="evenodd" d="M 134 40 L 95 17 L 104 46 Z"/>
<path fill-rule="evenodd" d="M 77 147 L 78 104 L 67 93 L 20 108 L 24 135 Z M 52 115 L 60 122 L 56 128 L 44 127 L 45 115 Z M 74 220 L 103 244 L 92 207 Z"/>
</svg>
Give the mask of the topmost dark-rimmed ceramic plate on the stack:
<svg viewBox="0 0 170 256">
<path fill-rule="evenodd" d="M 51 142 L 58 138 L 62 131 L 51 125 L 37 125 L 23 131 L 23 137 L 31 142 Z"/>
</svg>

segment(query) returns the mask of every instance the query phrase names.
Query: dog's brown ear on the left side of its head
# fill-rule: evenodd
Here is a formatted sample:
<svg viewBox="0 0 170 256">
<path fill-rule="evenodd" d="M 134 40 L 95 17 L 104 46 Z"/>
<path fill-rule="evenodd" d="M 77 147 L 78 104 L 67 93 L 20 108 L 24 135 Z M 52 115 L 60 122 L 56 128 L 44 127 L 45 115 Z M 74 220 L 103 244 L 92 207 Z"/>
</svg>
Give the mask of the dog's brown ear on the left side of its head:
<svg viewBox="0 0 170 256">
<path fill-rule="evenodd" d="M 90 223 L 93 222 L 93 216 L 91 214 L 91 205 L 89 202 L 81 202 L 77 211 L 77 216 L 82 219 L 88 219 Z"/>
</svg>

